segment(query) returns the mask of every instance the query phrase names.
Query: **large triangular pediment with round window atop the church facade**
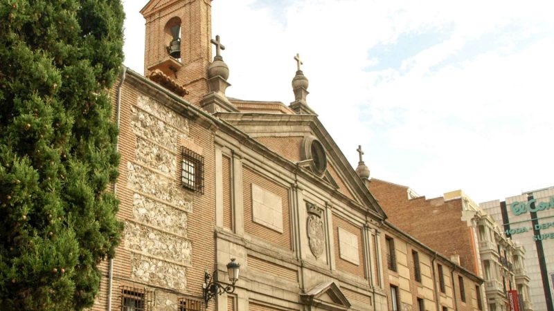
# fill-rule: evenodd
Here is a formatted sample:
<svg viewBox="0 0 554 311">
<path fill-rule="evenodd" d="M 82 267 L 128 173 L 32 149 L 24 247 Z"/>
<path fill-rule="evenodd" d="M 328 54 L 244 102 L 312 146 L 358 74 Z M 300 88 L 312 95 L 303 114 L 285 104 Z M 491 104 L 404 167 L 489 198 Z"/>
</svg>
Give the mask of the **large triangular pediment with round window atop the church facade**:
<svg viewBox="0 0 554 311">
<path fill-rule="evenodd" d="M 323 182 L 325 187 L 341 196 L 343 200 L 350 200 L 354 205 L 369 209 L 378 217 L 386 218 L 377 200 L 368 191 L 364 180 L 359 178 L 316 115 L 244 112 L 216 115 L 265 148 L 294 163 L 298 170 L 312 173 L 312 180 Z M 307 142 L 314 140 L 321 143 L 326 158 L 324 169 L 320 171 L 314 168 L 310 157 L 307 156 L 307 150 L 311 149 Z"/>
</svg>

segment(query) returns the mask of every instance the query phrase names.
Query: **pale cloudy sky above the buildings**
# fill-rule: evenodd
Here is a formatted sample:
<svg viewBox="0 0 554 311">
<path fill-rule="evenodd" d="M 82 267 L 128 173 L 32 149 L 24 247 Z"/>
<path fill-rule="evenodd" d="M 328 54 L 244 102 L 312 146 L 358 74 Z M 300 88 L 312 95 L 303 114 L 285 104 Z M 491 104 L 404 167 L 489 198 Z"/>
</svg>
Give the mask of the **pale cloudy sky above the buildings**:
<svg viewBox="0 0 554 311">
<path fill-rule="evenodd" d="M 143 73 L 145 0 L 123 0 Z M 476 202 L 554 186 L 554 1 L 214 0 L 226 95 L 307 103 L 352 167 Z"/>
</svg>

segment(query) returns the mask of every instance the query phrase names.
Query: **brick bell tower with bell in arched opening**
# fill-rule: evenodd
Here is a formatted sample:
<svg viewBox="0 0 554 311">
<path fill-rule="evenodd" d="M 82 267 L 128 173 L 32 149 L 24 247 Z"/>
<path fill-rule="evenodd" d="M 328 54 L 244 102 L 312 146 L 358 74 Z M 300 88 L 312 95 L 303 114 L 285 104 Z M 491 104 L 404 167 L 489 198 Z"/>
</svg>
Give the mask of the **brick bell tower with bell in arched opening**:
<svg viewBox="0 0 554 311">
<path fill-rule="evenodd" d="M 163 76 L 160 84 L 180 87 L 185 100 L 199 105 L 208 93 L 211 0 L 150 0 L 141 14 L 145 77 Z"/>
</svg>

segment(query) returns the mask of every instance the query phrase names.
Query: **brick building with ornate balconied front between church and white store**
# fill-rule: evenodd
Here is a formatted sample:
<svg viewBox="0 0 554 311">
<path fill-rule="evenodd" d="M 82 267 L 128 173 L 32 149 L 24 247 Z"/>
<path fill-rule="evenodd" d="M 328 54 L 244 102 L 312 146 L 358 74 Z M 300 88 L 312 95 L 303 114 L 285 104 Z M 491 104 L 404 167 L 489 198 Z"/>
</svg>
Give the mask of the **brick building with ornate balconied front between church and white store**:
<svg viewBox="0 0 554 311">
<path fill-rule="evenodd" d="M 368 188 L 391 223 L 485 279 L 489 311 L 510 310 L 513 290 L 520 294 L 521 310 L 533 310 L 524 248 L 463 191 L 427 199 L 409 187 L 375 178 Z"/>
</svg>

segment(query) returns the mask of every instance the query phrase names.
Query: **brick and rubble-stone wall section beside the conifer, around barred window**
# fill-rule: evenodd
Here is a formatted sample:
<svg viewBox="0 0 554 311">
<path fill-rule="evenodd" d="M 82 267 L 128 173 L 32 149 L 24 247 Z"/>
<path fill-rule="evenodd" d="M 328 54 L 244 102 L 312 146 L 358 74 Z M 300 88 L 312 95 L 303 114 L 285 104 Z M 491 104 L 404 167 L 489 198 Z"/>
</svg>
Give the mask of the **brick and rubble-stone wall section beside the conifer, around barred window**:
<svg viewBox="0 0 554 311">
<path fill-rule="evenodd" d="M 118 218 L 125 221 L 125 231 L 114 258 L 112 308 L 120 308 L 123 285 L 146 292 L 156 287 L 159 292 L 152 299 L 163 298 L 170 303 L 167 308 L 177 308 L 175 293 L 201 296 L 204 270 L 215 263 L 214 241 L 206 239 L 215 226 L 212 134 L 125 83 L 118 141 Z M 203 195 L 181 187 L 185 141 L 204 156 Z M 100 293 L 92 310 L 107 305 L 107 263 L 100 271 Z"/>
</svg>

